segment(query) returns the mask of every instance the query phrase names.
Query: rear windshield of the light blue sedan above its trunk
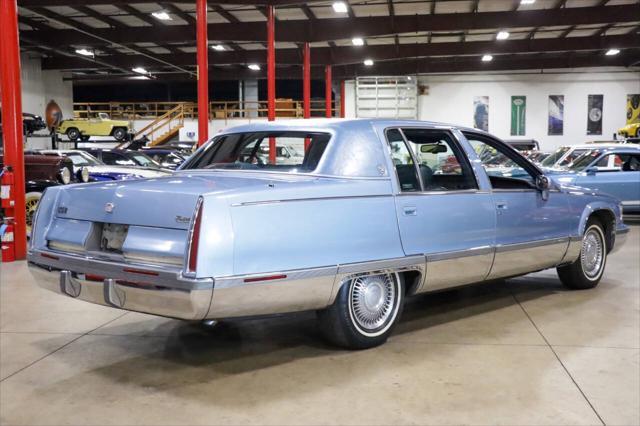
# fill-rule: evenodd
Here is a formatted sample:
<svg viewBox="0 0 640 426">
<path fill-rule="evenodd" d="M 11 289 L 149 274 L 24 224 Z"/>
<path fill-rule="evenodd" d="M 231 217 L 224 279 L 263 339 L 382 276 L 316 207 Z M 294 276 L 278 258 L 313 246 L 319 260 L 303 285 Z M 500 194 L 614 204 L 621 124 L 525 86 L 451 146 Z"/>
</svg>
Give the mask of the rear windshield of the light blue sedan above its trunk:
<svg viewBox="0 0 640 426">
<path fill-rule="evenodd" d="M 181 167 L 188 169 L 314 171 L 331 139 L 328 133 L 248 132 L 214 138 Z"/>
</svg>

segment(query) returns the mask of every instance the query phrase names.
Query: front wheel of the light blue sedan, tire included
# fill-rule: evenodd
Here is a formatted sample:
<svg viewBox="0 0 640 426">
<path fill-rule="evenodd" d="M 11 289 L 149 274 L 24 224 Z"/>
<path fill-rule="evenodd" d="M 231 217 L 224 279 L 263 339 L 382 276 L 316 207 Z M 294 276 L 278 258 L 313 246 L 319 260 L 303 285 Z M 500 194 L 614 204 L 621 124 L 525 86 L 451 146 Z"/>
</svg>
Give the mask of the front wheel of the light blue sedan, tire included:
<svg viewBox="0 0 640 426">
<path fill-rule="evenodd" d="M 580 257 L 570 265 L 558 267 L 558 277 L 567 288 L 594 288 L 602 278 L 606 263 L 607 243 L 604 229 L 597 219 L 590 219 L 582 237 Z"/>
</svg>

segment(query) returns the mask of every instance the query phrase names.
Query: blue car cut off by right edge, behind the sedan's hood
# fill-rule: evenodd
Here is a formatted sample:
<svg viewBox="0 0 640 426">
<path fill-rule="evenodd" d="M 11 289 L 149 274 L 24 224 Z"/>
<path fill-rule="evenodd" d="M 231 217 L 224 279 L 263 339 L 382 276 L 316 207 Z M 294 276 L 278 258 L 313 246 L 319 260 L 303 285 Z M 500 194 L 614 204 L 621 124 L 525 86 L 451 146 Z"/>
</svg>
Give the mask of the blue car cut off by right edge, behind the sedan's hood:
<svg viewBox="0 0 640 426">
<path fill-rule="evenodd" d="M 625 213 L 640 213 L 640 148 L 627 145 L 596 148 L 576 158 L 566 173 L 550 175 L 563 185 L 575 185 L 612 195 Z"/>
</svg>

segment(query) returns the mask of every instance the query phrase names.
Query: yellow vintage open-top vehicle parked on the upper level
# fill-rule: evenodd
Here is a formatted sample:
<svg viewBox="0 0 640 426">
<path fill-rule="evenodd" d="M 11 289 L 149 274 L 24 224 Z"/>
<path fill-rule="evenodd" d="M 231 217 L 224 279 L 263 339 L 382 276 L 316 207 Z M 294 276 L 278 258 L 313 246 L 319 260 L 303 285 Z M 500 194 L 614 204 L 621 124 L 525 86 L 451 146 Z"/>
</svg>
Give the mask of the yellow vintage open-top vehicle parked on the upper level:
<svg viewBox="0 0 640 426">
<path fill-rule="evenodd" d="M 91 136 L 113 136 L 117 141 L 127 139 L 133 132 L 131 124 L 124 120 L 111 120 L 101 112 L 96 118 L 62 120 L 56 128 L 58 134 L 67 135 L 70 141 L 88 141 Z"/>
</svg>

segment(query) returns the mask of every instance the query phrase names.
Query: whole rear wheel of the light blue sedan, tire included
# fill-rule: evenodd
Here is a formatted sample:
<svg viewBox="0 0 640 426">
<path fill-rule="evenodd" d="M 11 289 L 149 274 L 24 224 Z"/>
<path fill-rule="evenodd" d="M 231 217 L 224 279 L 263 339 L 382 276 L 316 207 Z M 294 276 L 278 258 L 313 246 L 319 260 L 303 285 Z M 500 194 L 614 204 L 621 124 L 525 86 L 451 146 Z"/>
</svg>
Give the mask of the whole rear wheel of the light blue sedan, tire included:
<svg viewBox="0 0 640 426">
<path fill-rule="evenodd" d="M 325 336 L 349 349 L 384 343 L 404 307 L 404 281 L 397 273 L 362 275 L 345 282 L 335 302 L 318 317 Z"/>
</svg>

